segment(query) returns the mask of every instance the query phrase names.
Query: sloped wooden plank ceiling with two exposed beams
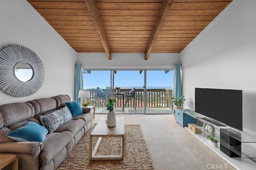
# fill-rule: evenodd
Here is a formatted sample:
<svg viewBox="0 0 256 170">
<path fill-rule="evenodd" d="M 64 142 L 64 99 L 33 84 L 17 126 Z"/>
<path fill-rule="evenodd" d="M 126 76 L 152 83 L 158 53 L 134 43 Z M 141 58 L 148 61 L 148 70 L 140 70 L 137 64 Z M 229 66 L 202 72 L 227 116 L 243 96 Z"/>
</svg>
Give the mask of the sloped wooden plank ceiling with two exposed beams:
<svg viewBox="0 0 256 170">
<path fill-rule="evenodd" d="M 28 0 L 76 52 L 180 53 L 232 0 Z"/>
</svg>

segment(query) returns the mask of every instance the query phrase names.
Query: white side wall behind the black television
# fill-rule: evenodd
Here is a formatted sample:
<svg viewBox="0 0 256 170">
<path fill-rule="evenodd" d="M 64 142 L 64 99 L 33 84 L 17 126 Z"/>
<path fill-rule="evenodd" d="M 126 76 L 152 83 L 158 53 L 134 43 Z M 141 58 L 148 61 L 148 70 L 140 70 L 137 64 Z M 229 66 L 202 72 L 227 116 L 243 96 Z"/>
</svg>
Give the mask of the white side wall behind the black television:
<svg viewBox="0 0 256 170">
<path fill-rule="evenodd" d="M 194 109 L 195 88 L 243 90 L 243 131 L 255 134 L 255 30 L 256 1 L 233 0 L 180 53 L 185 108 Z"/>
</svg>

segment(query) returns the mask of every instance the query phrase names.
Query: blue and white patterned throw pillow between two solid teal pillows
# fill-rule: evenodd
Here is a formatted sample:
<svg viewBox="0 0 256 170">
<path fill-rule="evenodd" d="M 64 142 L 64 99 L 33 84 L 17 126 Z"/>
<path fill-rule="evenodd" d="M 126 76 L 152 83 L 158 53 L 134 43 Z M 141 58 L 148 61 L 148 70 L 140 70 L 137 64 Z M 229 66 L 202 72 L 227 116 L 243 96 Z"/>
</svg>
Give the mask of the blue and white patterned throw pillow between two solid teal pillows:
<svg viewBox="0 0 256 170">
<path fill-rule="evenodd" d="M 72 119 L 72 115 L 67 107 L 40 116 L 42 125 L 48 129 L 49 133 L 53 133 L 58 127 Z"/>
</svg>

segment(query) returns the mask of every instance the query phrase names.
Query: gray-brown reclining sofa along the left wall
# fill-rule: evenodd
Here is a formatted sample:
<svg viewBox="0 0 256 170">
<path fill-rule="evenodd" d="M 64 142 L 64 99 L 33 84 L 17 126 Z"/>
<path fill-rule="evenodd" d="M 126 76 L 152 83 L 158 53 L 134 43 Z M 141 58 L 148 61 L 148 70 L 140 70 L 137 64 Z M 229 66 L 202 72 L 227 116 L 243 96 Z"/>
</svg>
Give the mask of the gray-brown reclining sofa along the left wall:
<svg viewBox="0 0 256 170">
<path fill-rule="evenodd" d="M 43 143 L 16 142 L 7 137 L 6 133 L 22 127 L 28 121 L 42 125 L 40 116 L 66 107 L 65 102 L 70 102 L 70 96 L 58 95 L 24 103 L 1 105 L 0 154 L 16 154 L 19 159 L 19 170 L 58 168 L 92 126 L 94 115 L 90 112 L 90 108 L 82 108 L 82 114 L 73 117 L 53 133 L 48 133 Z"/>
</svg>

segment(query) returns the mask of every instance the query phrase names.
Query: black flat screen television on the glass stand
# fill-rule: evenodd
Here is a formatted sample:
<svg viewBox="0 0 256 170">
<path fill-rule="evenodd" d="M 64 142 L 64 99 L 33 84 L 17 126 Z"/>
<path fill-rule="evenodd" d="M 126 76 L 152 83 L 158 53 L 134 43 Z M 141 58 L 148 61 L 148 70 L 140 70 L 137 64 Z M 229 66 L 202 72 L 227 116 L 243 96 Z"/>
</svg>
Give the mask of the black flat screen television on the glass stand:
<svg viewBox="0 0 256 170">
<path fill-rule="evenodd" d="M 196 88 L 195 111 L 242 131 L 242 90 Z"/>
</svg>

